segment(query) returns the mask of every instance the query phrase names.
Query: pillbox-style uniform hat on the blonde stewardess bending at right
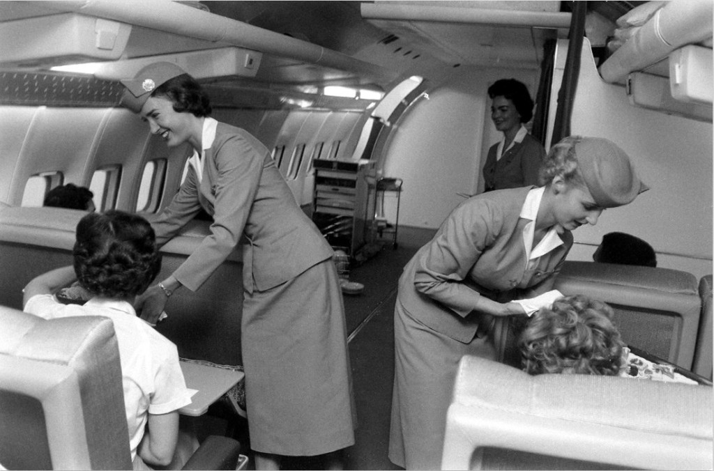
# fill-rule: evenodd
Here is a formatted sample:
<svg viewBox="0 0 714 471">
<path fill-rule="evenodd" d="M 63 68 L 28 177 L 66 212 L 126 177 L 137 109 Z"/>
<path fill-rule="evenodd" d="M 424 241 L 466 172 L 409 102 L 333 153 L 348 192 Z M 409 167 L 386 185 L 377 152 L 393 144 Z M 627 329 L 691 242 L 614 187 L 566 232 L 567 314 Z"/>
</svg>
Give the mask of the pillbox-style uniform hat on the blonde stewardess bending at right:
<svg viewBox="0 0 714 471">
<path fill-rule="evenodd" d="M 601 208 L 623 206 L 649 189 L 638 178 L 625 151 L 608 139 L 581 138 L 575 144 L 575 158 L 590 195 Z"/>
</svg>

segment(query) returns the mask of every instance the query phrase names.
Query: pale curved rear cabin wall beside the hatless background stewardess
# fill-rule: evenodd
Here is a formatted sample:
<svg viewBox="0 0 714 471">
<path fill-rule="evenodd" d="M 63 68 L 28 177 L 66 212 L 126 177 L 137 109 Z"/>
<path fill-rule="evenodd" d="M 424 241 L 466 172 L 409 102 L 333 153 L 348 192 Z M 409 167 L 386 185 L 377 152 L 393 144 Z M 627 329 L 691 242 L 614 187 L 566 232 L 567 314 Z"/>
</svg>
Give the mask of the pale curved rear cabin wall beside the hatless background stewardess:
<svg viewBox="0 0 714 471">
<path fill-rule="evenodd" d="M 499 78 L 516 78 L 535 92 L 536 71 L 465 68 L 434 83 L 428 99 L 414 103 L 391 129 L 383 174 L 404 181 L 401 225 L 438 228 L 463 201 L 457 193 L 478 191 L 486 151 L 501 138 L 486 92 Z"/>
</svg>

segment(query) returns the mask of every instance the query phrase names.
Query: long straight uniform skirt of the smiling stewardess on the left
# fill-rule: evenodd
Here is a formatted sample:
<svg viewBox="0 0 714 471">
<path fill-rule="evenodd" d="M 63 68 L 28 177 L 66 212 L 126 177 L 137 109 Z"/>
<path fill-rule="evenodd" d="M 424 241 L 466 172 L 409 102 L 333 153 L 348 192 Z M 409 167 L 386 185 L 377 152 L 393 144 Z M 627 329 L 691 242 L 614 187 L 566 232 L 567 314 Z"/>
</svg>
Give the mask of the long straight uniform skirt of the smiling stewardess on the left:
<svg viewBox="0 0 714 471">
<path fill-rule="evenodd" d="M 241 330 L 251 448 L 313 456 L 353 445 L 345 314 L 332 260 L 245 293 Z"/>
</svg>

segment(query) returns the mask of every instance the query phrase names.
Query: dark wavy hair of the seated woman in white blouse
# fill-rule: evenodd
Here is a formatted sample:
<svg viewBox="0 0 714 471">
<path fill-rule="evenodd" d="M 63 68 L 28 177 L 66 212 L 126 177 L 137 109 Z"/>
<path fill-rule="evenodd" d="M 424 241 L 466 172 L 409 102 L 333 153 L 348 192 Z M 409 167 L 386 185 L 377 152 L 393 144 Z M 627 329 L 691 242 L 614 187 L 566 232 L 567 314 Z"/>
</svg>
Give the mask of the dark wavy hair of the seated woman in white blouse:
<svg viewBox="0 0 714 471">
<path fill-rule="evenodd" d="M 144 293 L 161 270 L 154 229 L 124 211 L 89 213 L 77 224 L 74 272 L 82 288 L 105 298 Z"/>
</svg>

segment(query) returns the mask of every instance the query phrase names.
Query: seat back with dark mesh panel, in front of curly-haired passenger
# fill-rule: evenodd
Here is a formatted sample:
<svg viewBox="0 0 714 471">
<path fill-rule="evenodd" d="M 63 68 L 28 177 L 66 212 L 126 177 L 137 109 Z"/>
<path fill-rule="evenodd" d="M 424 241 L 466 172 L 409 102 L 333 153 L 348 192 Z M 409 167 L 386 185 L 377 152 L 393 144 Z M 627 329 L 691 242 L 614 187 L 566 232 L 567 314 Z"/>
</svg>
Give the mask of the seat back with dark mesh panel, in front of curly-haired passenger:
<svg viewBox="0 0 714 471">
<path fill-rule="evenodd" d="M 691 273 L 566 261 L 555 289 L 605 301 L 615 310 L 625 343 L 691 370 L 701 310 Z"/>
</svg>

